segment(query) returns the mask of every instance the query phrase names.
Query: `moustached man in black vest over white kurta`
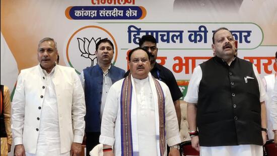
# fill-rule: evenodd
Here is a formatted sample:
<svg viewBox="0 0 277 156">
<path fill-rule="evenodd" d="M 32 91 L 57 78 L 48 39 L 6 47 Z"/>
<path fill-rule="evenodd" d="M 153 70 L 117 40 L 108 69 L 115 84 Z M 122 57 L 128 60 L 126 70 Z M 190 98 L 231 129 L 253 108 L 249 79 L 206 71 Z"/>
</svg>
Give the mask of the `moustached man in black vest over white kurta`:
<svg viewBox="0 0 277 156">
<path fill-rule="evenodd" d="M 266 94 L 254 65 L 236 57 L 235 42 L 227 28 L 214 32 L 215 57 L 194 69 L 184 99 L 191 144 L 203 156 L 263 154 Z"/>
</svg>

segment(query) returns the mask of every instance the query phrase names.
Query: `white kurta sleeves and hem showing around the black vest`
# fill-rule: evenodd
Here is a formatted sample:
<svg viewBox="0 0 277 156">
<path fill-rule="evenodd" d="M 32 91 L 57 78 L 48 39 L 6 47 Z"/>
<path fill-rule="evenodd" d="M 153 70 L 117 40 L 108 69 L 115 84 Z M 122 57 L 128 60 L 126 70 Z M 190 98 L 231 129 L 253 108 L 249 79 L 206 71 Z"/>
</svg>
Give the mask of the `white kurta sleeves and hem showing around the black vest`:
<svg viewBox="0 0 277 156">
<path fill-rule="evenodd" d="M 262 81 L 259 77 L 258 71 L 254 65 L 253 65 L 253 71 L 255 73 L 255 76 L 259 84 L 260 102 L 262 102 L 266 99 L 265 89 L 262 85 Z M 199 91 L 198 88 L 199 88 L 201 79 L 202 79 L 202 70 L 201 70 L 201 67 L 198 65 L 196 68 L 194 68 L 193 74 L 189 81 L 189 86 L 188 86 L 187 94 L 184 98 L 184 101 L 189 103 L 198 102 L 198 91 Z M 236 146 L 215 146 L 215 147 L 200 146 L 200 155 L 213 155 L 213 156 L 217 156 L 217 155 L 218 156 L 221 156 L 221 155 L 255 156 L 257 155 L 257 156 L 260 156 L 262 154 L 263 154 L 262 146 L 259 146 L 259 145 L 236 145 Z"/>
</svg>

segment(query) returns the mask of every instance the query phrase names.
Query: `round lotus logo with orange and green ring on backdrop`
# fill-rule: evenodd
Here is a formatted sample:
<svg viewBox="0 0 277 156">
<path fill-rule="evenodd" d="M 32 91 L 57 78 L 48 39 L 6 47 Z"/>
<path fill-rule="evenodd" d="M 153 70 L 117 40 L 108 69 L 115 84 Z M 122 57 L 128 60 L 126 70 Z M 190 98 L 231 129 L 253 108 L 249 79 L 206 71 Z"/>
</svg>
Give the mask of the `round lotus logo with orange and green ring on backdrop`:
<svg viewBox="0 0 277 156">
<path fill-rule="evenodd" d="M 65 55 L 68 66 L 75 68 L 80 74 L 83 69 L 97 64 L 95 55 L 96 43 L 102 39 L 108 38 L 114 45 L 114 57 L 112 63 L 117 59 L 117 44 L 114 37 L 106 29 L 99 26 L 86 26 L 75 31 L 65 47 Z"/>
</svg>

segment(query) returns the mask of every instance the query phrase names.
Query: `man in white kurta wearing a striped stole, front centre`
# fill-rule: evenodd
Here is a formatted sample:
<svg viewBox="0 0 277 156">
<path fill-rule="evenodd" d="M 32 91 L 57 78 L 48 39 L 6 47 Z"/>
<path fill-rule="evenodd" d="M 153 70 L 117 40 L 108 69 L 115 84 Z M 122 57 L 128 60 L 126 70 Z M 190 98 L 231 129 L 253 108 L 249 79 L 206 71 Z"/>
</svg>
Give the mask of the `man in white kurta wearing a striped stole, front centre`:
<svg viewBox="0 0 277 156">
<path fill-rule="evenodd" d="M 179 155 L 179 129 L 167 85 L 150 73 L 150 54 L 128 54 L 130 73 L 114 83 L 103 112 L 100 143 L 104 155 Z M 113 146 L 113 149 L 111 148 Z"/>
</svg>

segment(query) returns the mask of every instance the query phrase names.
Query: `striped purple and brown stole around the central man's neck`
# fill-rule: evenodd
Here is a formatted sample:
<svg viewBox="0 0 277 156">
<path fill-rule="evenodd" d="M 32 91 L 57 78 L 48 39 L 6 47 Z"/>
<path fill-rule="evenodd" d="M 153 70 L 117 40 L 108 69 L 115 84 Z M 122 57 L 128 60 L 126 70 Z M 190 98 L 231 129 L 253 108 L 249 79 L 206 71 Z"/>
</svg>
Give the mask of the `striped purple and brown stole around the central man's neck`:
<svg viewBox="0 0 277 156">
<path fill-rule="evenodd" d="M 166 149 L 165 138 L 165 97 L 162 87 L 158 80 L 152 77 L 155 83 L 158 95 L 159 110 L 159 142 L 160 154 L 163 156 Z M 151 88 L 150 88 L 151 89 Z M 133 155 L 132 148 L 132 129 L 131 129 L 131 102 L 132 102 L 132 83 L 131 74 L 129 74 L 122 83 L 120 94 L 120 133 L 121 133 L 121 155 Z M 154 149 L 153 149 L 154 150 Z"/>
</svg>

